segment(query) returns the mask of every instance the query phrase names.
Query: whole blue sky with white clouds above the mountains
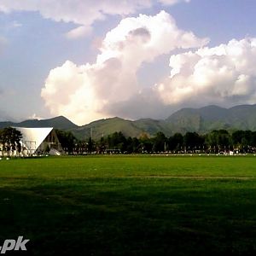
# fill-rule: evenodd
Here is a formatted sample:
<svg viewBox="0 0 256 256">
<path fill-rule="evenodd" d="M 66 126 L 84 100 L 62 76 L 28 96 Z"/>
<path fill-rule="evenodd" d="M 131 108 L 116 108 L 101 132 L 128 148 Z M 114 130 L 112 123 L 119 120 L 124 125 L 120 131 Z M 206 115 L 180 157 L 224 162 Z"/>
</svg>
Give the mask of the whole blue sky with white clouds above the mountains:
<svg viewBox="0 0 256 256">
<path fill-rule="evenodd" d="M 0 121 L 256 103 L 255 0 L 0 0 Z"/>
</svg>

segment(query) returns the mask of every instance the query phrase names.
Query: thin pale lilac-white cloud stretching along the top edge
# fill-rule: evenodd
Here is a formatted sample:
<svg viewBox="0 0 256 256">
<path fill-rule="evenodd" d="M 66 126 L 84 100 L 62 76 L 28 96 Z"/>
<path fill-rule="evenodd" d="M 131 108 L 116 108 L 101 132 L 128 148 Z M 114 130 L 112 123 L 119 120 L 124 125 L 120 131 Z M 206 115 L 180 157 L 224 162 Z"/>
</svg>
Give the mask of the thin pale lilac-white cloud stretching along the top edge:
<svg viewBox="0 0 256 256">
<path fill-rule="evenodd" d="M 38 11 L 46 19 L 73 22 L 78 27 L 67 32 L 67 38 L 79 38 L 90 33 L 96 20 L 105 20 L 107 15 L 135 14 L 156 2 L 172 5 L 188 0 L 1 0 L 0 11 Z"/>
</svg>

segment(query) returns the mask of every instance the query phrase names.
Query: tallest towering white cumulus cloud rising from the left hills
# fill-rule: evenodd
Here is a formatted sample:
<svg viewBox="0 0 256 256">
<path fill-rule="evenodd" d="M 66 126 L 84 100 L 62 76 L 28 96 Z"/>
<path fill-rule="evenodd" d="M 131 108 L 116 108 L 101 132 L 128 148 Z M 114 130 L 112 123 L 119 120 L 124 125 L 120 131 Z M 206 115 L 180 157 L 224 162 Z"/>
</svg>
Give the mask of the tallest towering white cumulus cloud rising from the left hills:
<svg viewBox="0 0 256 256">
<path fill-rule="evenodd" d="M 130 102 L 143 92 L 137 83 L 143 62 L 154 61 L 173 49 L 198 48 L 207 42 L 178 29 L 165 11 L 125 18 L 107 33 L 96 63 L 77 66 L 66 61 L 50 71 L 41 95 L 52 114 L 64 114 L 78 124 L 108 117 L 113 106 Z"/>
</svg>

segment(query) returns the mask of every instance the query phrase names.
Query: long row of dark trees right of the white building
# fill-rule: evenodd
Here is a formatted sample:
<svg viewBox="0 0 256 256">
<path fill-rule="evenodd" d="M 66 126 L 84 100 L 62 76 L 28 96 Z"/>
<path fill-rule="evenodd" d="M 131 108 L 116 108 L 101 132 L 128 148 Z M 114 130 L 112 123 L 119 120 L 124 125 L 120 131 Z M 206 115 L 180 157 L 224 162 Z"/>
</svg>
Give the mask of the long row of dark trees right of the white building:
<svg viewBox="0 0 256 256">
<path fill-rule="evenodd" d="M 140 137 L 125 137 L 114 132 L 108 137 L 94 141 L 77 140 L 70 131 L 56 131 L 62 148 L 69 154 L 224 154 L 256 152 L 256 131 L 215 130 L 200 135 L 196 132 L 175 133 L 166 137 L 158 132 L 154 137 L 143 133 Z"/>
</svg>

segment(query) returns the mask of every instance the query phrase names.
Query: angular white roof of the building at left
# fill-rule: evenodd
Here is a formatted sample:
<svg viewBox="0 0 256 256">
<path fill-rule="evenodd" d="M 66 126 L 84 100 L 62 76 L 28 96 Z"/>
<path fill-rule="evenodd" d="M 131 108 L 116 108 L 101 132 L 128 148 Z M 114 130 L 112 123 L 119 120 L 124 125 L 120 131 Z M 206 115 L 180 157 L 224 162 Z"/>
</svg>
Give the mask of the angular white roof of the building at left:
<svg viewBox="0 0 256 256">
<path fill-rule="evenodd" d="M 49 135 L 49 132 L 53 130 L 53 127 L 47 128 L 24 128 L 14 127 L 22 134 L 21 143 L 26 146 L 27 149 L 37 150 L 44 139 Z"/>
</svg>

